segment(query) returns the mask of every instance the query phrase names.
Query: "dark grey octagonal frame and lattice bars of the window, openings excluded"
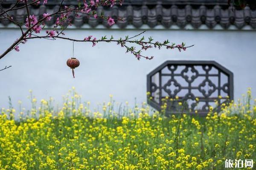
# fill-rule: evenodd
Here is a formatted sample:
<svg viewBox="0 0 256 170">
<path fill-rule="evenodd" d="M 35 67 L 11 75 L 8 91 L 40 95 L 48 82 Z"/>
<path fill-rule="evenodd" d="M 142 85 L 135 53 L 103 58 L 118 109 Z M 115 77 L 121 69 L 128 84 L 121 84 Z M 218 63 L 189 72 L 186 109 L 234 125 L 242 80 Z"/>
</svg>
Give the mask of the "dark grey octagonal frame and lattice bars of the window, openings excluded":
<svg viewBox="0 0 256 170">
<path fill-rule="evenodd" d="M 228 86 L 228 91 L 227 91 L 227 94 L 229 96 L 228 98 L 228 101 L 231 101 L 233 100 L 234 98 L 234 87 L 233 87 L 233 73 L 228 70 L 227 68 L 225 68 L 224 66 L 220 65 L 219 63 L 215 62 L 215 61 L 198 61 L 198 60 L 169 60 L 169 61 L 166 61 L 164 62 L 163 64 L 161 64 L 160 66 L 158 66 L 157 68 L 155 68 L 153 71 L 151 71 L 148 75 L 147 75 L 147 92 L 150 92 L 150 95 L 147 96 L 148 97 L 148 104 L 151 105 L 151 107 L 155 108 L 156 110 L 160 111 L 161 110 L 161 99 L 162 99 L 162 89 L 164 88 L 164 85 L 162 85 L 162 76 L 164 75 L 162 73 L 163 69 L 166 68 L 166 66 L 170 67 L 171 65 L 177 65 L 177 66 L 180 66 L 180 65 L 184 65 L 185 66 L 185 69 L 187 67 L 194 67 L 194 66 L 202 66 L 202 68 L 204 69 L 204 67 L 206 68 L 206 66 L 208 67 L 214 67 L 215 69 L 218 70 L 218 75 L 215 75 L 216 77 L 218 77 L 218 86 L 215 87 L 218 91 L 218 95 L 220 95 L 220 91 L 222 89 L 220 88 L 223 88 L 223 87 L 220 87 L 220 84 L 221 84 L 221 76 L 220 74 L 225 74 L 227 76 L 227 86 Z M 169 70 L 171 68 L 168 68 Z M 184 70 L 185 70 L 184 69 Z M 209 69 L 210 71 L 211 69 Z M 170 70 L 171 71 L 171 70 Z M 196 70 L 194 70 L 196 71 Z M 204 70 L 205 71 L 205 70 Z M 209 74 L 209 71 L 208 71 L 208 74 Z M 172 71 L 171 71 L 172 72 Z M 205 77 L 207 77 L 207 71 L 205 71 Z M 155 86 L 154 83 L 152 83 L 152 77 L 159 73 L 159 87 Z M 172 73 L 173 74 L 173 73 Z M 168 75 L 167 75 L 168 76 Z M 212 76 L 211 74 L 208 75 L 209 77 Z M 209 79 L 209 77 L 207 79 Z M 173 79 L 173 75 L 171 76 L 171 79 Z M 183 77 L 184 78 L 184 77 Z M 186 81 L 187 82 L 187 81 Z M 175 82 L 174 82 L 175 83 Z M 166 83 L 167 84 L 167 83 Z M 152 87 L 155 86 L 155 88 L 158 88 L 159 89 L 159 96 L 160 96 L 160 100 L 159 100 L 159 103 L 157 103 L 156 101 L 152 100 L 152 99 L 149 99 L 150 97 L 152 97 Z M 178 86 L 178 85 L 177 85 Z M 198 85 L 199 86 L 199 85 Z M 184 88 L 181 86 L 181 88 Z M 187 88 L 189 89 L 189 88 Z M 215 89 L 215 90 L 216 90 Z M 154 89 L 155 90 L 155 89 Z M 189 93 L 191 93 L 191 89 L 189 90 Z M 188 93 L 188 94 L 189 94 Z M 174 96 L 170 96 L 170 98 L 174 98 Z M 180 101 L 185 101 L 186 98 L 179 98 Z M 200 99 L 201 100 L 201 99 Z M 208 106 L 209 106 L 209 102 L 212 102 L 214 99 L 211 99 L 211 98 L 205 98 L 205 100 L 208 100 Z M 218 101 L 220 101 L 220 99 L 217 99 Z M 227 101 L 226 101 L 227 102 Z M 215 108 L 216 111 L 219 111 L 219 108 Z M 208 111 L 205 110 L 205 109 L 202 109 L 202 110 L 197 110 L 198 111 L 198 115 L 200 116 L 206 116 Z M 179 111 L 172 111 L 172 110 L 167 110 L 166 111 L 166 115 L 169 115 L 169 114 L 177 114 L 177 113 L 180 113 Z M 189 111 L 187 112 L 188 114 L 191 114 L 191 115 L 195 115 L 195 111 Z"/>
</svg>

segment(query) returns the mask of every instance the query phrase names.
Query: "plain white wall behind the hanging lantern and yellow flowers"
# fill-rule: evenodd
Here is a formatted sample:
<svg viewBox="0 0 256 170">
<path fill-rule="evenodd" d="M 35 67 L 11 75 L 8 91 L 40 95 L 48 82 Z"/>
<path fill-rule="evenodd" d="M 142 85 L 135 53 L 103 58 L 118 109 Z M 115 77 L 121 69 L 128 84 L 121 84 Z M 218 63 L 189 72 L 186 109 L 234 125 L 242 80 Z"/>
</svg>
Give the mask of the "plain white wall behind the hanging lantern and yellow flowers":
<svg viewBox="0 0 256 170">
<path fill-rule="evenodd" d="M 113 37 L 138 34 L 140 30 L 68 30 L 66 36 L 83 39 L 88 35 L 101 37 L 103 34 Z M 72 42 L 67 40 L 29 40 L 20 45 L 20 52 L 12 51 L 0 60 L 0 68 L 12 65 L 0 71 L 0 107 L 8 107 L 8 96 L 13 104 L 23 102 L 30 108 L 29 89 L 38 100 L 52 96 L 61 102 L 61 96 L 75 86 L 84 101 L 96 105 L 108 101 L 113 94 L 118 102 L 134 103 L 146 100 L 146 75 L 171 59 L 215 60 L 234 73 L 235 99 L 252 87 L 256 96 L 256 32 L 255 31 L 178 31 L 149 30 L 145 37 L 154 40 L 186 42 L 195 44 L 187 51 L 151 50 L 151 61 L 138 61 L 125 49 L 115 43 L 99 43 L 91 48 L 91 43 L 75 42 L 75 57 L 80 60 L 73 79 L 66 61 L 72 56 Z M 0 53 L 19 36 L 18 29 L 0 29 Z"/>
</svg>

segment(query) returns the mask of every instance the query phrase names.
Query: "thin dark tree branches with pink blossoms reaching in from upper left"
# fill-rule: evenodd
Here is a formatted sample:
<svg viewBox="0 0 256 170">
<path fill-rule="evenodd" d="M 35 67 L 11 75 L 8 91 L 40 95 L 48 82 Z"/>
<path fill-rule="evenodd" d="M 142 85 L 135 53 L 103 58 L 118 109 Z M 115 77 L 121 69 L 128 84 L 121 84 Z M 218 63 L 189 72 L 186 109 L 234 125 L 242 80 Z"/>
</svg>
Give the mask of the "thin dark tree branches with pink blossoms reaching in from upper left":
<svg viewBox="0 0 256 170">
<path fill-rule="evenodd" d="M 37 0 L 33 3 L 29 3 L 28 4 L 28 0 L 24 0 L 25 6 L 21 6 L 18 8 L 24 8 L 26 7 L 26 12 L 27 12 L 27 20 L 26 20 L 26 24 L 20 24 L 18 22 L 16 22 L 15 20 L 12 19 L 12 17 L 7 13 L 7 11 L 11 11 L 11 10 L 15 10 L 18 8 L 15 8 L 14 6 L 12 6 L 12 8 L 9 8 L 7 11 L 4 11 L 1 14 L 6 14 L 7 16 L 3 16 L 3 20 L 7 19 L 10 20 L 12 23 L 14 23 L 15 25 L 20 27 L 20 30 L 22 32 L 22 35 L 11 45 L 9 46 L 9 48 L 3 52 L 3 54 L 0 55 L 0 59 L 3 58 L 6 54 L 8 54 L 10 51 L 12 51 L 13 49 L 15 49 L 16 51 L 18 47 L 17 45 L 19 45 L 20 43 L 25 43 L 26 40 L 29 39 L 35 39 L 35 38 L 44 38 L 44 39 L 49 39 L 49 40 L 56 40 L 56 39 L 64 39 L 64 40 L 71 40 L 71 41 L 76 41 L 76 42 L 92 42 L 93 46 L 96 45 L 96 43 L 98 42 L 116 42 L 117 45 L 121 45 L 121 47 L 125 47 L 127 49 L 126 52 L 131 52 L 131 54 L 134 54 L 135 57 L 137 59 L 140 59 L 141 57 L 144 57 L 146 59 L 152 59 L 153 57 L 145 57 L 143 55 L 141 55 L 143 50 L 147 50 L 148 48 L 162 48 L 162 47 L 166 47 L 167 49 L 173 49 L 173 48 L 177 48 L 179 51 L 181 50 L 186 50 L 186 48 L 192 47 L 194 45 L 190 45 L 190 46 L 185 46 L 185 43 L 182 43 L 180 45 L 175 45 L 175 43 L 170 44 L 170 42 L 168 40 L 165 40 L 163 42 L 153 42 L 153 39 L 151 37 L 148 38 L 148 41 L 145 41 L 144 36 L 141 37 L 138 40 L 134 40 L 135 37 L 140 36 L 141 34 L 145 33 L 145 31 L 141 32 L 140 34 L 137 34 L 133 37 L 128 37 L 126 36 L 125 38 L 120 38 L 119 40 L 113 40 L 113 37 L 111 36 L 110 39 L 105 37 L 102 37 L 101 39 L 97 40 L 96 38 L 91 38 L 92 36 L 86 37 L 83 40 L 77 40 L 77 39 L 72 39 L 69 37 L 61 37 L 60 35 L 63 34 L 63 31 L 66 30 L 66 28 L 69 25 L 72 25 L 72 20 L 78 15 L 78 13 L 82 13 L 82 14 L 87 14 L 88 17 L 100 17 L 103 20 L 108 20 L 108 24 L 111 26 L 113 25 L 114 21 L 111 17 L 105 16 L 103 14 L 98 15 L 96 12 L 96 10 L 94 9 L 94 7 L 96 6 L 113 6 L 113 4 L 115 3 L 122 3 L 122 0 L 105 0 L 105 1 L 101 1 L 100 3 L 93 3 L 90 2 L 89 4 L 85 3 L 84 6 L 81 6 L 81 4 L 78 4 L 77 6 L 71 5 L 70 6 L 65 6 L 65 8 L 61 9 L 62 4 L 64 3 L 64 0 L 61 0 L 60 6 L 58 8 L 58 11 L 55 11 L 52 14 L 44 14 L 44 17 L 37 20 L 37 17 L 33 16 L 33 22 L 32 20 L 30 20 L 30 15 L 29 15 L 29 5 L 32 5 L 36 2 L 39 2 L 40 0 Z M 20 0 L 17 0 L 15 6 L 20 2 Z M 90 12 L 92 10 L 92 12 Z M 75 16 L 70 18 L 70 14 L 74 12 Z M 61 14 L 61 16 L 59 17 L 59 15 Z M 59 20 L 58 22 L 56 22 L 56 24 L 53 26 L 53 28 L 50 28 L 51 30 L 47 30 L 47 35 L 46 36 L 40 36 L 40 35 L 34 35 L 32 34 L 33 32 L 40 33 L 40 31 L 42 30 L 42 28 L 44 28 L 45 26 L 45 21 L 46 20 L 51 20 L 52 16 L 58 16 Z M 118 20 L 122 20 L 122 18 L 118 18 Z M 36 23 L 35 23 L 36 22 Z M 66 25 L 67 22 L 67 25 Z M 27 29 L 25 32 L 23 32 L 23 27 L 22 26 L 26 26 Z M 59 28 L 59 26 L 61 27 L 61 31 L 57 31 L 57 29 Z M 56 35 L 57 33 L 57 35 Z M 31 37 L 31 35 L 33 35 L 33 37 Z M 131 44 L 136 44 L 135 46 L 130 46 L 127 45 L 127 43 L 131 43 Z M 17 49 L 16 49 L 17 47 Z M 139 50 L 137 50 L 136 48 L 139 47 Z"/>
</svg>

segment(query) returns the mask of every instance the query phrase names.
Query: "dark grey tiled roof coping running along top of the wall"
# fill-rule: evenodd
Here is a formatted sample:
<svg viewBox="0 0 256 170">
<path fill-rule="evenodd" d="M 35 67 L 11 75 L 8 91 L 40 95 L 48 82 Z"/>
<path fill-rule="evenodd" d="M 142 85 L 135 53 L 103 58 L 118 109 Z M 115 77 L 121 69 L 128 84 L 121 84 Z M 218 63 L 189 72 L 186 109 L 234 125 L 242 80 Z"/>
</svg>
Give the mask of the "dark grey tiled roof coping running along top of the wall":
<svg viewBox="0 0 256 170">
<path fill-rule="evenodd" d="M 48 0 L 46 6 L 31 6 L 29 8 L 31 14 L 42 16 L 43 13 L 51 13 L 58 9 L 61 0 Z M 4 8 L 8 8 L 8 4 L 14 3 L 15 0 L 7 0 L 3 4 Z M 76 4 L 76 0 L 65 0 L 65 5 Z M 162 25 L 164 28 L 178 26 L 184 28 L 191 25 L 192 28 L 198 29 L 205 25 L 207 28 L 214 28 L 220 25 L 223 29 L 235 26 L 236 29 L 242 29 L 244 26 L 250 26 L 256 29 L 256 10 L 246 7 L 244 9 L 232 8 L 227 5 L 227 0 L 124 0 L 123 6 L 113 6 L 113 8 L 105 8 L 100 6 L 97 8 L 98 13 L 103 12 L 106 16 L 113 18 L 123 17 L 124 22 L 116 21 L 119 28 L 126 28 L 129 25 L 140 28 L 148 25 L 150 28 Z M 22 8 L 11 13 L 14 18 L 24 23 L 26 18 L 26 9 Z M 56 19 L 56 18 L 55 18 Z M 52 25 L 55 21 L 51 20 L 47 23 Z M 1 21 L 7 26 L 8 21 Z M 74 26 L 80 28 L 89 25 L 95 28 L 99 25 L 108 27 L 105 20 L 96 19 L 82 15 L 73 20 Z"/>
</svg>

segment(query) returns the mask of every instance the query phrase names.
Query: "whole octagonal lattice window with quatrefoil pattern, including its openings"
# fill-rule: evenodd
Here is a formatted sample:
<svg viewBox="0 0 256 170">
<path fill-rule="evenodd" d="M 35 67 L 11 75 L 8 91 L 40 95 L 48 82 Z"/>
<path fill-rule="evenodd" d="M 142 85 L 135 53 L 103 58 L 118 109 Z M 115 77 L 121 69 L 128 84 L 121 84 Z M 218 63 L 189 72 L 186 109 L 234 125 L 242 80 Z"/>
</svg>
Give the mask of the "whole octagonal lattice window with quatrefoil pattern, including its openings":
<svg viewBox="0 0 256 170">
<path fill-rule="evenodd" d="M 186 113 L 206 116 L 233 100 L 233 73 L 215 61 L 166 61 L 148 74 L 147 91 L 158 111 L 164 101 L 166 114 L 181 113 L 182 102 Z"/>
</svg>

